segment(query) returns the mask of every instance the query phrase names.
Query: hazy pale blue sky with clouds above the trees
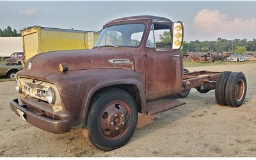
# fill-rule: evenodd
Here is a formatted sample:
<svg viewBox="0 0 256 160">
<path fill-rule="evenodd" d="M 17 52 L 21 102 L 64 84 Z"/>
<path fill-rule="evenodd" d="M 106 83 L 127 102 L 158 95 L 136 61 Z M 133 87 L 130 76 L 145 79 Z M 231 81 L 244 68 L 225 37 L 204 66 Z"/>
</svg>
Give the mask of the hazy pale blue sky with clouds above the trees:
<svg viewBox="0 0 256 160">
<path fill-rule="evenodd" d="M 99 31 L 106 22 L 156 15 L 184 23 L 184 40 L 256 38 L 256 1 L 0 1 L 0 28 Z"/>
</svg>

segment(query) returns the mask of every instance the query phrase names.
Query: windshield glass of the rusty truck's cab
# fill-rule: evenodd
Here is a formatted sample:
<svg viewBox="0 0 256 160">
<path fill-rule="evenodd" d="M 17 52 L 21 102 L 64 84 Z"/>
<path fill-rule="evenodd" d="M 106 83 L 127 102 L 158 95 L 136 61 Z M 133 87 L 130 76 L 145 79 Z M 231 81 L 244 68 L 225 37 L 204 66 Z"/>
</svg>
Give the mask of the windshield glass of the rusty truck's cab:
<svg viewBox="0 0 256 160">
<path fill-rule="evenodd" d="M 95 47 L 103 46 L 127 46 L 138 47 L 140 45 L 145 25 L 122 24 L 102 29 Z"/>
</svg>

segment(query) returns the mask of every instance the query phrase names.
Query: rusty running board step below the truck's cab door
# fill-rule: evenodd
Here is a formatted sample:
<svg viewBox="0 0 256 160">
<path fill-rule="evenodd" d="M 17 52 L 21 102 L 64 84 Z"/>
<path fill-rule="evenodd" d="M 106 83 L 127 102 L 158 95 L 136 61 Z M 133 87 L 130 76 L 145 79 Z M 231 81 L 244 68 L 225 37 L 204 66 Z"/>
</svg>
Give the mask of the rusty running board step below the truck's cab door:
<svg viewBox="0 0 256 160">
<path fill-rule="evenodd" d="M 168 111 L 173 108 L 177 108 L 183 104 L 186 104 L 183 100 L 179 99 L 159 99 L 151 102 L 147 102 L 147 115 L 156 115 L 164 111 Z"/>
</svg>

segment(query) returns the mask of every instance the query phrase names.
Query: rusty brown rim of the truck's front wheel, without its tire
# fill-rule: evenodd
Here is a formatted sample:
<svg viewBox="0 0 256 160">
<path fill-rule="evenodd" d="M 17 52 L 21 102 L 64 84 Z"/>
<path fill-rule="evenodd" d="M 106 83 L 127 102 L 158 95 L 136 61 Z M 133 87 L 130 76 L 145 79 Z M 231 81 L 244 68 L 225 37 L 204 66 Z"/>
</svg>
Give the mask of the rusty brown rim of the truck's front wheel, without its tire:
<svg viewBox="0 0 256 160">
<path fill-rule="evenodd" d="M 100 131 L 105 138 L 118 139 L 127 132 L 131 122 L 131 109 L 122 101 L 107 104 L 100 113 Z"/>
</svg>

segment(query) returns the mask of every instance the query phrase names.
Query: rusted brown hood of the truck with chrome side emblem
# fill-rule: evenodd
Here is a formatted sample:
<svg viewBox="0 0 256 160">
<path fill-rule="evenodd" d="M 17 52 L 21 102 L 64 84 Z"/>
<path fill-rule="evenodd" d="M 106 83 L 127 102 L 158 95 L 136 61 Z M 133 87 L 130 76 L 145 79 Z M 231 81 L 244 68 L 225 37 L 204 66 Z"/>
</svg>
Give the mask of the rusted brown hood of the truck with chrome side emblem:
<svg viewBox="0 0 256 160">
<path fill-rule="evenodd" d="M 106 47 L 37 54 L 26 61 L 24 68 L 17 75 L 43 80 L 49 74 L 60 72 L 59 65 L 61 63 L 67 63 L 68 72 L 99 68 L 134 69 L 134 60 L 131 53 Z"/>
</svg>

